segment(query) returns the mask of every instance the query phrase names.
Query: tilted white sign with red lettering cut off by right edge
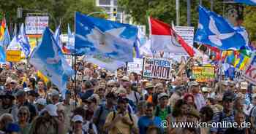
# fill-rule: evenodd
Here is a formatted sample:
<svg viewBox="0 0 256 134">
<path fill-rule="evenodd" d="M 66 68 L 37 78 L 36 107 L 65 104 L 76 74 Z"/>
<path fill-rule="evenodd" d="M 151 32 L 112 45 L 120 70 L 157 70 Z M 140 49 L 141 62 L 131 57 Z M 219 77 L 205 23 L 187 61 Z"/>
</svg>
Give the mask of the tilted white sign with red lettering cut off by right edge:
<svg viewBox="0 0 256 134">
<path fill-rule="evenodd" d="M 256 55 L 252 56 L 251 62 L 247 66 L 243 78 L 252 84 L 256 84 Z"/>
</svg>

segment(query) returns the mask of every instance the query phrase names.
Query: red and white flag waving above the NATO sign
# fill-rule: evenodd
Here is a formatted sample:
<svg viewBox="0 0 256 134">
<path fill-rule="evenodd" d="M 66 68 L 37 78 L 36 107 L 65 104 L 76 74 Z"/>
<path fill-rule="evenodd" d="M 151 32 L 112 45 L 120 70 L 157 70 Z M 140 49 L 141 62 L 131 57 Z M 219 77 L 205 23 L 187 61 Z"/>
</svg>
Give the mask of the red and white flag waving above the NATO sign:
<svg viewBox="0 0 256 134">
<path fill-rule="evenodd" d="M 152 17 L 149 18 L 151 33 L 151 50 L 194 56 L 192 47 L 184 41 L 170 25 Z"/>
</svg>

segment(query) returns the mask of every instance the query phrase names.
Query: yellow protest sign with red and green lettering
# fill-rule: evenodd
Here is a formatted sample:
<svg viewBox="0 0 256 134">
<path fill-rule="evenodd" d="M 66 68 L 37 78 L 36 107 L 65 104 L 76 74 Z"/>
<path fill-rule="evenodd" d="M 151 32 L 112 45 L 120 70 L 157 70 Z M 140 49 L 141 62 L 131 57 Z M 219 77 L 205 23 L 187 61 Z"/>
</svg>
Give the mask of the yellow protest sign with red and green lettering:
<svg viewBox="0 0 256 134">
<path fill-rule="evenodd" d="M 192 77 L 196 82 L 214 82 L 214 66 L 192 66 Z"/>
</svg>

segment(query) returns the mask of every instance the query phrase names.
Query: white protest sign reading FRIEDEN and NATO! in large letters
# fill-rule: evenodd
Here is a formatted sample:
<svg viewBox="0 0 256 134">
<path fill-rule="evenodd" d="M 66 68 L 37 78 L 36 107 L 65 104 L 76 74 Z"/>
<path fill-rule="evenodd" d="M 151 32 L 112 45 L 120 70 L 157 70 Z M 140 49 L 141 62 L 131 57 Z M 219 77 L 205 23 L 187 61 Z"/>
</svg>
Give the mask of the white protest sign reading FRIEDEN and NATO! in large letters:
<svg viewBox="0 0 256 134">
<path fill-rule="evenodd" d="M 171 60 L 164 58 L 144 58 L 143 76 L 157 79 L 171 79 Z"/>
</svg>

